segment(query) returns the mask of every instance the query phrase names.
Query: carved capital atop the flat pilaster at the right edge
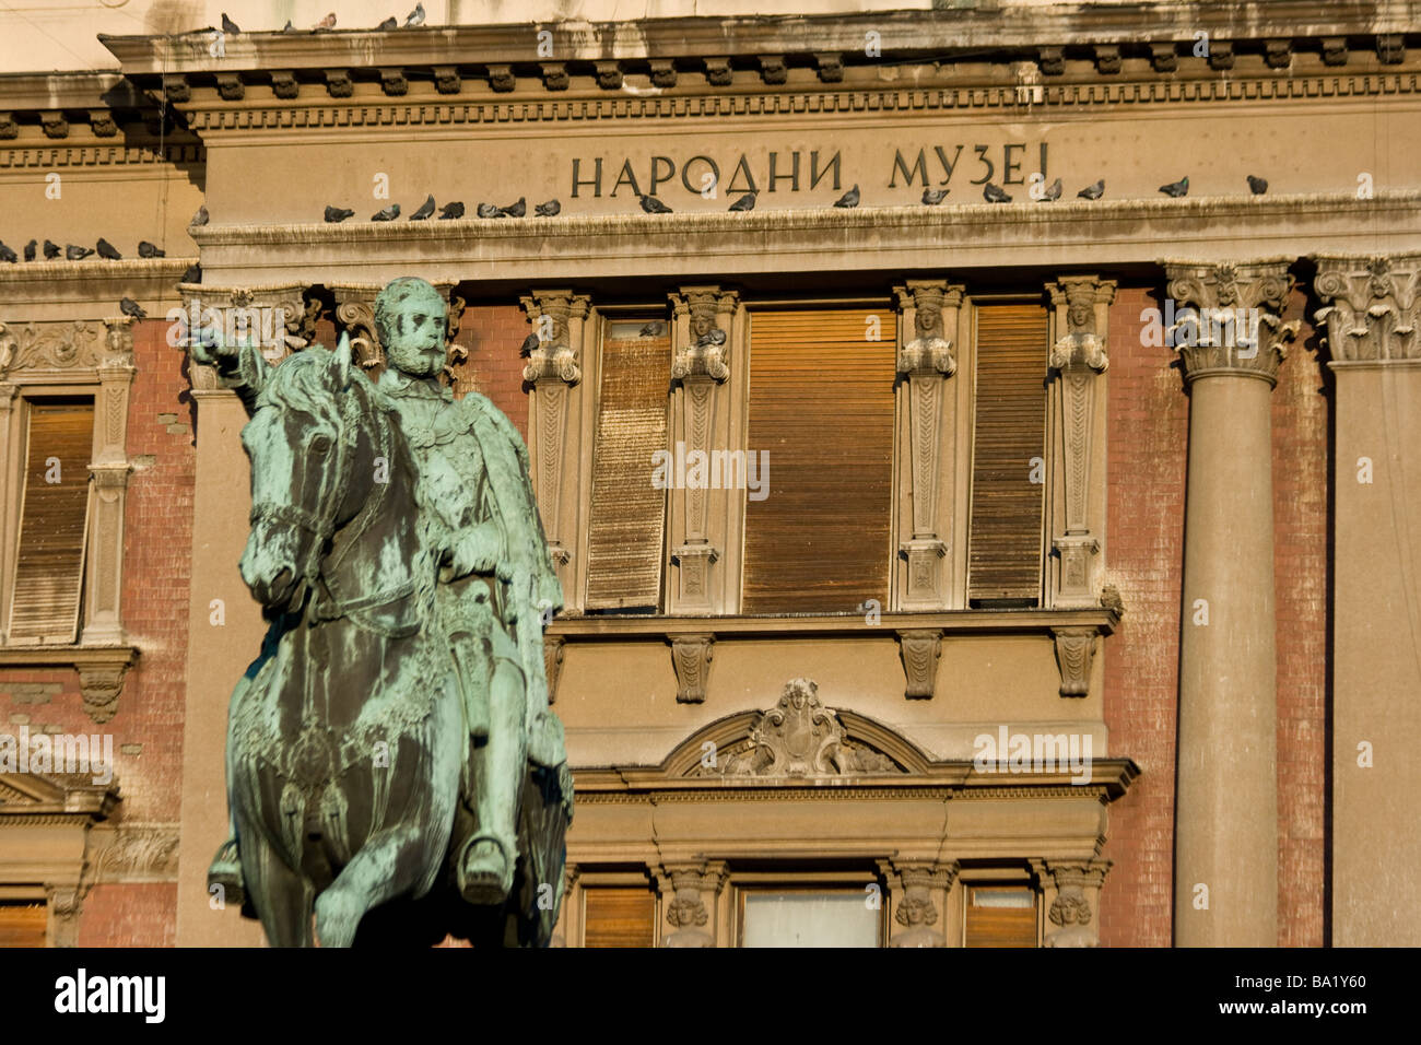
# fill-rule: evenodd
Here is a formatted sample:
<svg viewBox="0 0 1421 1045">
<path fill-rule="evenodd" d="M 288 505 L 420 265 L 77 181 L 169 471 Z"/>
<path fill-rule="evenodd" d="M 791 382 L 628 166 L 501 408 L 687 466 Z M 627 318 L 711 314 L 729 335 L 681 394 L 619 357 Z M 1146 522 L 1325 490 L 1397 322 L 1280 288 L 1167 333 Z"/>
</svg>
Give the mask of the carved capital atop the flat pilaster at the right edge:
<svg viewBox="0 0 1421 1045">
<path fill-rule="evenodd" d="M 1317 257 L 1331 363 L 1421 360 L 1421 254 Z"/>
</svg>

